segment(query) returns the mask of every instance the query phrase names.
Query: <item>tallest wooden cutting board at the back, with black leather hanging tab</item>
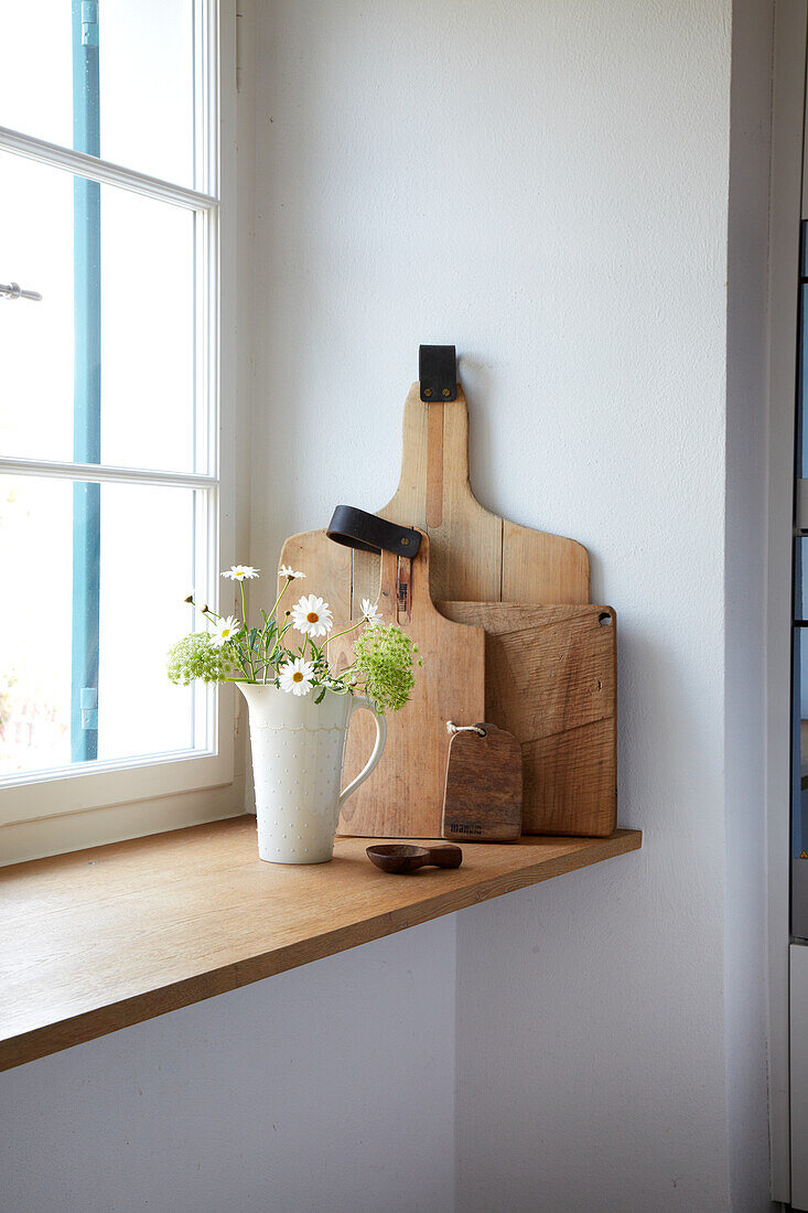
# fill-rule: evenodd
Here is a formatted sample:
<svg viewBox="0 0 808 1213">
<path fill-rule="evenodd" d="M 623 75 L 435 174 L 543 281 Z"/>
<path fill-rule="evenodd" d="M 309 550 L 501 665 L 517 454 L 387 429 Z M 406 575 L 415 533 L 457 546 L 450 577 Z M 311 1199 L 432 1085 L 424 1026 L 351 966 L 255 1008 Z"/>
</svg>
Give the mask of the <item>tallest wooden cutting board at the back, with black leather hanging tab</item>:
<svg viewBox="0 0 808 1213">
<path fill-rule="evenodd" d="M 349 505 L 366 508 L 355 500 Z M 474 497 L 468 478 L 468 406 L 460 386 L 456 400 L 425 404 L 419 385 L 412 385 L 404 405 L 399 485 L 392 501 L 374 513 L 429 536 L 436 602 L 590 600 L 585 547 L 500 518 Z M 362 599 L 375 600 L 380 558 L 332 543 L 325 530 L 292 535 L 280 562 L 306 573 L 336 619 L 358 617 Z"/>
</svg>

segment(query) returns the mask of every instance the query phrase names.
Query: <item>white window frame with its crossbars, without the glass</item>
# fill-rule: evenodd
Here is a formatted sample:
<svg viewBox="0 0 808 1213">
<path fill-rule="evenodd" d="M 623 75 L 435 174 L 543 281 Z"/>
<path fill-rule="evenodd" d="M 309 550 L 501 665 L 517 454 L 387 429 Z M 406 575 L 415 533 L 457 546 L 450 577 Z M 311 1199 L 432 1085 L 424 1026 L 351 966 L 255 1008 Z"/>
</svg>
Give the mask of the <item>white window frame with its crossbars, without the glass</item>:
<svg viewBox="0 0 808 1213">
<path fill-rule="evenodd" d="M 206 474 L 158 472 L 108 465 L 6 459 L 0 473 L 59 477 L 102 484 L 170 485 L 204 490 L 205 583 L 197 590 L 220 600 L 218 569 L 234 562 L 233 337 L 223 340 L 221 314 L 234 315 L 234 224 L 229 197 L 222 206 L 222 181 L 234 176 L 235 5 L 198 0 L 200 36 L 194 75 L 201 86 L 197 104 L 197 175 L 203 190 L 188 189 L 120 165 L 0 127 L 0 149 L 91 181 L 190 210 L 197 216 L 198 375 L 204 383 L 209 425 Z M 222 131 L 227 130 L 224 138 Z M 234 195 L 235 189 L 226 190 Z M 228 324 L 232 335 L 234 324 Z M 226 402 L 228 416 L 222 416 Z M 147 587 L 143 587 L 144 592 Z M 226 604 L 229 608 L 229 604 Z M 243 790 L 234 780 L 234 693 L 207 688 L 209 736 L 204 750 L 143 754 L 123 761 L 75 764 L 27 773 L 0 782 L 0 865 L 119 838 L 175 828 L 243 811 Z M 193 795 L 189 795 L 193 793 Z"/>
</svg>

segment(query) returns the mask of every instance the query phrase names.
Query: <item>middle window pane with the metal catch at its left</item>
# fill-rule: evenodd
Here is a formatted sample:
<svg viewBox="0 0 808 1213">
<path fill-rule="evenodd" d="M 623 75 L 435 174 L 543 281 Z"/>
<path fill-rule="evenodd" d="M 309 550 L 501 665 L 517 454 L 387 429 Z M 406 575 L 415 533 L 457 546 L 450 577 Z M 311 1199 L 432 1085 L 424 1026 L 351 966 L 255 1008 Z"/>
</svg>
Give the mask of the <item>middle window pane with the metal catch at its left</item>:
<svg viewBox="0 0 808 1213">
<path fill-rule="evenodd" d="M 206 471 L 193 212 L 8 153 L 0 181 L 0 281 L 42 295 L 0 298 L 0 455 Z"/>
</svg>

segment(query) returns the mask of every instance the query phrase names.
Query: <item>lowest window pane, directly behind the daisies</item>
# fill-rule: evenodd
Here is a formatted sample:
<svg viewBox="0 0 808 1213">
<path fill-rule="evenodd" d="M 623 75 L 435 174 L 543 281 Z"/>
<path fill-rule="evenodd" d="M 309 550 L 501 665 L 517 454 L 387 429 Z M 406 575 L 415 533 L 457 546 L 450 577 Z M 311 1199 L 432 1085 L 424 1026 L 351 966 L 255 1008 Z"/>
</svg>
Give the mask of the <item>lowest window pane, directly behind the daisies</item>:
<svg viewBox="0 0 808 1213">
<path fill-rule="evenodd" d="M 84 576 L 73 568 L 74 485 L 0 475 L 0 776 L 69 764 L 82 724 L 97 724 L 99 759 L 205 748 L 204 693 L 172 687 L 165 672 L 167 649 L 195 626 L 183 599 L 194 587 L 204 496 L 101 485 L 98 714 L 91 694 L 72 725 L 73 603 Z M 87 619 L 92 609 L 76 614 L 79 633 Z M 92 645 L 92 623 L 85 631 Z"/>
</svg>

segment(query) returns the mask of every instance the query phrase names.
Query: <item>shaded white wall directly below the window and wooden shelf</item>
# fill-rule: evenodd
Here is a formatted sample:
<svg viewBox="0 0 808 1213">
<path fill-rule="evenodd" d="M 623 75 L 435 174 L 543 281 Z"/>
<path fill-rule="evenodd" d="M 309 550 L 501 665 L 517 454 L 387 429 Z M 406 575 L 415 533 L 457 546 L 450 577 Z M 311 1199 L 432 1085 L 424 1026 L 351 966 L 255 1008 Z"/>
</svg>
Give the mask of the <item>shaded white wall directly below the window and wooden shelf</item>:
<svg viewBox="0 0 808 1213">
<path fill-rule="evenodd" d="M 0 1075 L 0 1208 L 451 1209 L 453 1046 L 444 918 Z"/>
</svg>

